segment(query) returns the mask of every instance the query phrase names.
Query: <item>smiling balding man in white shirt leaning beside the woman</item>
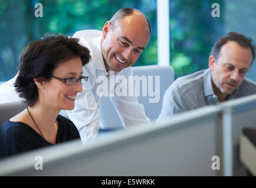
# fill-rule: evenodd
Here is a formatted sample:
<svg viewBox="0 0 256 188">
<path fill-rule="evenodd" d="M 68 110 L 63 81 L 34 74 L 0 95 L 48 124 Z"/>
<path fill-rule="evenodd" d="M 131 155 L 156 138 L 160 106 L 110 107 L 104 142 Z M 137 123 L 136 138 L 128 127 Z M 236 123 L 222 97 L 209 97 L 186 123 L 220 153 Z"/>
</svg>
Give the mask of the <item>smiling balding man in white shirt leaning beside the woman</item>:
<svg viewBox="0 0 256 188">
<path fill-rule="evenodd" d="M 74 34 L 73 38 L 79 38 L 80 44 L 90 50 L 91 61 L 83 67 L 83 75 L 89 76 L 89 80 L 83 92 L 77 95 L 74 110 L 62 111 L 61 114 L 77 126 L 83 142 L 96 137 L 99 131 L 99 108 L 107 98 L 102 95 L 103 90 L 107 90 L 124 127 L 150 123 L 136 95 L 115 95 L 115 89 L 122 83 L 120 78 L 127 80 L 133 75 L 130 66 L 146 48 L 150 34 L 145 15 L 131 8 L 117 11 L 102 31 L 84 30 Z M 14 91 L 14 81 L 12 78 L 0 87 L 0 102 L 22 100 Z M 129 82 L 131 87 L 135 90 L 133 83 Z"/>
</svg>

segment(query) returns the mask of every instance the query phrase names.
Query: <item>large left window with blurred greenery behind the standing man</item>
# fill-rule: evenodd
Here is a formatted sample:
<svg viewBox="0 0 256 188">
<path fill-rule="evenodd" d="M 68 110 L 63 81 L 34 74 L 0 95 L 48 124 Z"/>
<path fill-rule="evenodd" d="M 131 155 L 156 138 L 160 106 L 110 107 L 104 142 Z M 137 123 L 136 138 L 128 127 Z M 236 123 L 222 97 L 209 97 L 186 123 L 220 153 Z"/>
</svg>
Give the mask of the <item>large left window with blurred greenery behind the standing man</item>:
<svg viewBox="0 0 256 188">
<path fill-rule="evenodd" d="M 42 18 L 34 15 L 38 2 L 43 6 Z M 139 9 L 152 25 L 149 44 L 135 65 L 156 64 L 155 0 L 0 0 L 0 82 L 15 76 L 19 58 L 28 42 L 47 32 L 72 36 L 84 29 L 101 30 L 114 12 L 124 7 Z"/>
</svg>

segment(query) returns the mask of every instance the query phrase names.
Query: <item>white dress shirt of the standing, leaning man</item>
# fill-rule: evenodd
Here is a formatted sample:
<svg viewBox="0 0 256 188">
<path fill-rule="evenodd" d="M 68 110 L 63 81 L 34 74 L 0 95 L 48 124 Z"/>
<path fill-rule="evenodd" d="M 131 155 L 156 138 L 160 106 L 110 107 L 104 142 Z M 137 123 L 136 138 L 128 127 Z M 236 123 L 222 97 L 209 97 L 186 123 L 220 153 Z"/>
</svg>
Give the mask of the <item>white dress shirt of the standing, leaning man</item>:
<svg viewBox="0 0 256 188">
<path fill-rule="evenodd" d="M 111 95 L 114 93 L 114 89 L 122 83 L 120 78 L 127 79 L 133 73 L 130 67 L 120 72 L 113 72 L 111 69 L 106 71 L 101 54 L 101 36 L 101 31 L 97 30 L 78 31 L 73 36 L 73 38 L 79 38 L 79 43 L 90 50 L 90 62 L 83 66 L 83 75 L 89 76 L 89 79 L 83 86 L 83 92 L 78 93 L 76 97 L 75 108 L 61 110 L 61 115 L 68 117 L 76 125 L 83 142 L 96 137 L 98 133 L 100 127 L 99 108 L 107 98 L 106 95 L 102 95 L 102 93 L 106 93 L 105 91 L 116 108 L 124 127 L 150 122 L 145 115 L 143 105 L 138 103 L 136 96 Z M 0 86 L 0 103 L 21 100 L 13 85 L 16 76 Z M 117 81 L 117 79 L 119 80 Z M 135 91 L 134 84 L 132 85 Z"/>
</svg>

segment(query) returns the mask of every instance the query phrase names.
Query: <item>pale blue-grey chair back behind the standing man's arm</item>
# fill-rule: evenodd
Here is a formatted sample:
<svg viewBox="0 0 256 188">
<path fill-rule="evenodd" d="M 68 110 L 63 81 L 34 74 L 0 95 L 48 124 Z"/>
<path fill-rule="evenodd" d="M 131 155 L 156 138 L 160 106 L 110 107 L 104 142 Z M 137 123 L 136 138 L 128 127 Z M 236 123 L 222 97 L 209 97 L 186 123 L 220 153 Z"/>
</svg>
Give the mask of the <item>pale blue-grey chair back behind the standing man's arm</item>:
<svg viewBox="0 0 256 188">
<path fill-rule="evenodd" d="M 149 65 L 133 66 L 132 70 L 138 101 L 144 106 L 146 116 L 151 121 L 155 121 L 162 109 L 163 95 L 174 81 L 173 68 L 171 66 Z M 105 99 L 99 111 L 101 129 L 123 129 L 118 112 L 110 98 Z"/>
</svg>

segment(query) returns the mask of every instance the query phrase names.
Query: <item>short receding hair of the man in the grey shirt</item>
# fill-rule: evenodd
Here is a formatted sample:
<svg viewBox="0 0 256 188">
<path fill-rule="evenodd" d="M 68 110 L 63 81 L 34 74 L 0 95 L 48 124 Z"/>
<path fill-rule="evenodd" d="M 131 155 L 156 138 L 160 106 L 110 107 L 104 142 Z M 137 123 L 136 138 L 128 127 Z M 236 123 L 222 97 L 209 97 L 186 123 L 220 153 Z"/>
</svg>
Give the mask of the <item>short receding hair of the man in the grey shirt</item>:
<svg viewBox="0 0 256 188">
<path fill-rule="evenodd" d="M 221 47 L 225 45 L 228 41 L 237 42 L 239 46 L 243 48 L 250 48 L 252 52 L 252 62 L 255 56 L 255 45 L 251 38 L 247 38 L 239 32 L 229 32 L 227 36 L 220 38 L 212 47 L 210 55 L 214 55 L 216 60 L 219 58 L 219 53 L 221 52 Z M 252 64 L 251 62 L 251 64 Z"/>
</svg>

